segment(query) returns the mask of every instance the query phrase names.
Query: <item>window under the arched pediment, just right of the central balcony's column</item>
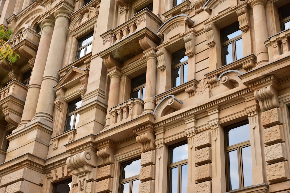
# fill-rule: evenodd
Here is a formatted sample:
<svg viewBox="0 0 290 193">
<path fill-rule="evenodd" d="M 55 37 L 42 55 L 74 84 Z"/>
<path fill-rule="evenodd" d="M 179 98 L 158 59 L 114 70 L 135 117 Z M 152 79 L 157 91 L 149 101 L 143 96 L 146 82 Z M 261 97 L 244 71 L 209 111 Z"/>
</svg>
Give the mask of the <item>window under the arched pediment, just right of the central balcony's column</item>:
<svg viewBox="0 0 290 193">
<path fill-rule="evenodd" d="M 185 48 L 178 50 L 172 54 L 172 87 L 177 87 L 187 82 L 188 65 Z"/>
</svg>

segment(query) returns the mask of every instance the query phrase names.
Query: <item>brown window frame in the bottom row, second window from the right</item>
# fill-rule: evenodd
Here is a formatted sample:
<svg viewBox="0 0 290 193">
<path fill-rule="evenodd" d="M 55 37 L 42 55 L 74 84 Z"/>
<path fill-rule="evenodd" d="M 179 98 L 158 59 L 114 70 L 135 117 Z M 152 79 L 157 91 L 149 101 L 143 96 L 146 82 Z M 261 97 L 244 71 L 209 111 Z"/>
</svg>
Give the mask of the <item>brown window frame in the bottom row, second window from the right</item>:
<svg viewBox="0 0 290 193">
<path fill-rule="evenodd" d="M 184 166 L 184 165 L 188 165 L 188 157 L 187 157 L 187 159 L 180 160 L 180 161 L 173 162 L 173 163 L 171 163 L 171 158 L 172 158 L 173 149 L 176 148 L 176 147 L 185 145 L 185 144 L 188 145 L 188 142 L 187 141 L 182 141 L 180 143 L 177 143 L 177 144 L 174 144 L 174 145 L 168 147 L 168 169 L 167 169 L 167 181 L 168 181 L 168 183 L 167 183 L 167 192 L 168 193 L 170 193 L 170 188 L 171 188 L 170 187 L 170 185 L 171 185 L 170 170 L 173 169 L 173 168 L 177 168 L 177 173 L 178 173 L 178 176 L 177 176 L 177 179 L 178 179 L 177 180 L 177 193 L 181 193 L 181 181 L 182 181 L 182 173 L 181 173 L 182 170 L 181 170 L 181 167 Z M 188 154 L 188 152 L 187 152 L 187 154 Z M 187 173 L 187 176 L 188 176 L 188 173 Z"/>
</svg>

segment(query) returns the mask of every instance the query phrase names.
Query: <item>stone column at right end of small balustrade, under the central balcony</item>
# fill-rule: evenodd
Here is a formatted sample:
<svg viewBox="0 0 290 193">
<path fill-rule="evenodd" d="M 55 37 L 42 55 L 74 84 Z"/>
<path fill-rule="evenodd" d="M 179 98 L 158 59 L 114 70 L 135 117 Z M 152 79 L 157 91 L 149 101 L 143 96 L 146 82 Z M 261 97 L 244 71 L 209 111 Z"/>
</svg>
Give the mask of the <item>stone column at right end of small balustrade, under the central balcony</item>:
<svg viewBox="0 0 290 193">
<path fill-rule="evenodd" d="M 157 49 L 155 47 L 151 47 L 144 51 L 147 60 L 147 70 L 143 113 L 153 113 L 155 109 L 155 98 L 153 96 L 156 93 L 156 51 Z"/>
</svg>

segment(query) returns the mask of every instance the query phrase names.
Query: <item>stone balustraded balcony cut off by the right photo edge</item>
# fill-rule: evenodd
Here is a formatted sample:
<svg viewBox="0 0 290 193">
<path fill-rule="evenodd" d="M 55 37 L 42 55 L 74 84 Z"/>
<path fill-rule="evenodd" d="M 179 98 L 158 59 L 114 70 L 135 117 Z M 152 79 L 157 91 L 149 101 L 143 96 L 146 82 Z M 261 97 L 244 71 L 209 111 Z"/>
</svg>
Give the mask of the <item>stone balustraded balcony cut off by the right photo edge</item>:
<svg viewBox="0 0 290 193">
<path fill-rule="evenodd" d="M 290 29 L 269 37 L 265 44 L 269 51 L 269 62 L 288 56 L 290 54 Z"/>
</svg>

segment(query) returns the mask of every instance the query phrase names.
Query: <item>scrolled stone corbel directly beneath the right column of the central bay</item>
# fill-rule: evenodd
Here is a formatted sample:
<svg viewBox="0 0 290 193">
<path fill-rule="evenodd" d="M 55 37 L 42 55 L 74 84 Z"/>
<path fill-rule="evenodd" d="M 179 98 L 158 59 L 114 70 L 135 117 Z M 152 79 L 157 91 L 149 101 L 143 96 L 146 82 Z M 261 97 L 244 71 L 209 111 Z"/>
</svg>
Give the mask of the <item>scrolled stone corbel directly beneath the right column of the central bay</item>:
<svg viewBox="0 0 290 193">
<path fill-rule="evenodd" d="M 137 135 L 136 141 L 141 144 L 143 153 L 155 150 L 155 134 L 151 124 L 135 129 L 134 133 Z"/>
</svg>

